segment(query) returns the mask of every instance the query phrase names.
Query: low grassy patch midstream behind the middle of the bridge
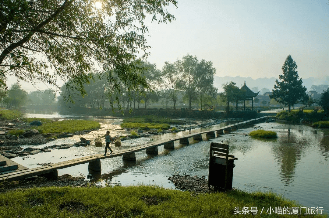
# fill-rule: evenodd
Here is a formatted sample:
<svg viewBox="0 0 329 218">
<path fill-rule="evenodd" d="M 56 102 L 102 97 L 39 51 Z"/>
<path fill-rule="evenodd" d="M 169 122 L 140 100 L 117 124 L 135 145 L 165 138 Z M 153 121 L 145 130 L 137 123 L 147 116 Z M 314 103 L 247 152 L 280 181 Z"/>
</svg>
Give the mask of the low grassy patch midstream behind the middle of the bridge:
<svg viewBox="0 0 329 218">
<path fill-rule="evenodd" d="M 120 126 L 130 129 L 169 129 L 170 124 L 185 124 L 185 122 L 158 116 L 136 116 L 125 118 Z"/>
</svg>

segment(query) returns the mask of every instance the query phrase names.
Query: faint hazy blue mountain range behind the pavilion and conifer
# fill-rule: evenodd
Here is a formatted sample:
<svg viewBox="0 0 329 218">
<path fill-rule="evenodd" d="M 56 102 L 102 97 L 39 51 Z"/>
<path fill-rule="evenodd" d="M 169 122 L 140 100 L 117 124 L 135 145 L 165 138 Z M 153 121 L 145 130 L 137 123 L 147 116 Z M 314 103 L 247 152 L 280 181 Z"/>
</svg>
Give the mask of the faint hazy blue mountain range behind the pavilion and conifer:
<svg viewBox="0 0 329 218">
<path fill-rule="evenodd" d="M 214 76 L 214 86 L 218 88 L 218 91 L 223 91 L 222 84 L 226 82 L 233 81 L 237 84 L 237 86 L 241 87 L 244 84 L 244 80 L 246 81 L 246 85 L 249 87 L 249 89 L 252 89 L 253 87 L 258 87 L 259 90 L 263 88 L 268 88 L 269 90 L 272 90 L 275 84 L 275 80 L 279 78 L 271 77 L 271 78 L 257 78 L 253 79 L 251 77 L 232 77 L 232 76 Z M 310 78 L 303 78 L 303 86 L 307 88 L 307 91 L 311 89 L 312 85 L 322 85 L 326 84 L 329 85 L 329 76 L 325 77 L 310 77 Z"/>
</svg>

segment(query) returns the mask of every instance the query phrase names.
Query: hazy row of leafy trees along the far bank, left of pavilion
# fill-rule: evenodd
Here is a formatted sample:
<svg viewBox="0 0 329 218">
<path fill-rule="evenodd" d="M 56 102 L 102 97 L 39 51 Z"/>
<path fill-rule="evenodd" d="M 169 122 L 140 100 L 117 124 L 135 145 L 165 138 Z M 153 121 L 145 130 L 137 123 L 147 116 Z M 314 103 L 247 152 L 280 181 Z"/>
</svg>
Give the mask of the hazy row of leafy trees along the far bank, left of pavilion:
<svg viewBox="0 0 329 218">
<path fill-rule="evenodd" d="M 192 102 L 199 103 L 202 108 L 202 104 L 216 99 L 217 89 L 213 85 L 216 69 L 211 61 L 199 61 L 196 56 L 187 54 L 174 63 L 165 62 L 162 69 L 157 69 L 155 64 L 149 62 L 141 62 L 139 67 L 143 69 L 141 75 L 146 81 L 144 87 L 138 83 L 123 83 L 116 70 L 112 70 L 107 73 L 115 78 L 115 81 L 109 82 L 104 75 L 94 74 L 93 79 L 89 79 L 83 87 L 86 93 L 74 89 L 72 92 L 72 89 L 63 85 L 60 104 L 63 108 L 103 108 L 107 103 L 119 109 L 121 106 L 123 109 L 135 109 L 139 108 L 140 104 L 147 108 L 149 102 L 163 99 L 173 102 L 176 109 L 176 102 L 182 94 L 191 109 Z M 114 86 L 118 87 L 114 89 Z M 73 101 L 65 101 L 68 96 L 71 96 Z"/>
</svg>

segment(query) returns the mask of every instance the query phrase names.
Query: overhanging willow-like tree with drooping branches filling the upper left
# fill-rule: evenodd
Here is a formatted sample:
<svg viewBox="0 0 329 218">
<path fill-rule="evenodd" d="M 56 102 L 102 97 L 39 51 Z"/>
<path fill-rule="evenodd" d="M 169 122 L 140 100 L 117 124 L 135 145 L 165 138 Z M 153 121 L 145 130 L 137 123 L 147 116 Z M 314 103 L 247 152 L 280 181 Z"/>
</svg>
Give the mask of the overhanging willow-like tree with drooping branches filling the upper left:
<svg viewBox="0 0 329 218">
<path fill-rule="evenodd" d="M 2 0 L 0 1 L 0 87 L 1 76 L 17 80 L 41 81 L 85 95 L 84 84 L 93 72 L 106 74 L 128 85 L 146 81 L 131 68 L 149 55 L 146 15 L 153 22 L 174 20 L 168 5 L 176 0 Z M 119 86 L 114 86 L 119 90 Z M 67 100 L 70 99 L 70 95 Z"/>
</svg>

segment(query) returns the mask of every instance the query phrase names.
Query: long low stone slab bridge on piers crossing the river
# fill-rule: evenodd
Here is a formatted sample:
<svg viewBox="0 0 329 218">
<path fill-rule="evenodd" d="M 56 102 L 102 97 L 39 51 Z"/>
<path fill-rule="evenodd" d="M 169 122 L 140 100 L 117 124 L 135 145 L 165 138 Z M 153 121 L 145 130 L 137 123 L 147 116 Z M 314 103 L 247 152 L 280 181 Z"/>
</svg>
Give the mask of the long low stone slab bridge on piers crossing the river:
<svg viewBox="0 0 329 218">
<path fill-rule="evenodd" d="M 130 149 L 119 150 L 107 156 L 104 156 L 103 153 L 93 154 L 90 156 L 84 156 L 81 158 L 76 158 L 72 160 L 67 160 L 67 161 L 49 164 L 46 166 L 31 168 L 31 169 L 23 167 L 11 161 L 10 159 L 0 155 L 2 156 L 0 160 L 0 182 L 14 181 L 14 180 L 24 179 L 36 175 L 43 175 L 49 179 L 57 179 L 58 169 L 63 169 L 63 168 L 72 167 L 75 165 L 85 164 L 85 163 L 89 163 L 88 169 L 99 172 L 101 171 L 101 161 L 100 161 L 101 159 L 122 156 L 122 159 L 124 160 L 136 161 L 135 152 L 137 151 L 146 150 L 146 153 L 158 154 L 158 147 L 162 145 L 164 145 L 165 149 L 174 149 L 174 141 L 179 140 L 179 143 L 181 144 L 189 144 L 189 138 L 192 137 L 194 140 L 202 141 L 201 134 L 206 134 L 206 136 L 208 137 L 215 137 L 215 134 L 221 135 L 224 133 L 235 131 L 237 129 L 252 127 L 256 123 L 261 123 L 266 121 L 266 119 L 267 116 L 264 116 L 256 119 L 243 121 L 240 123 L 235 123 L 216 130 L 191 133 L 184 136 L 174 137 L 172 139 L 166 139 L 158 142 L 152 142 L 152 143 L 140 145 Z"/>
</svg>

